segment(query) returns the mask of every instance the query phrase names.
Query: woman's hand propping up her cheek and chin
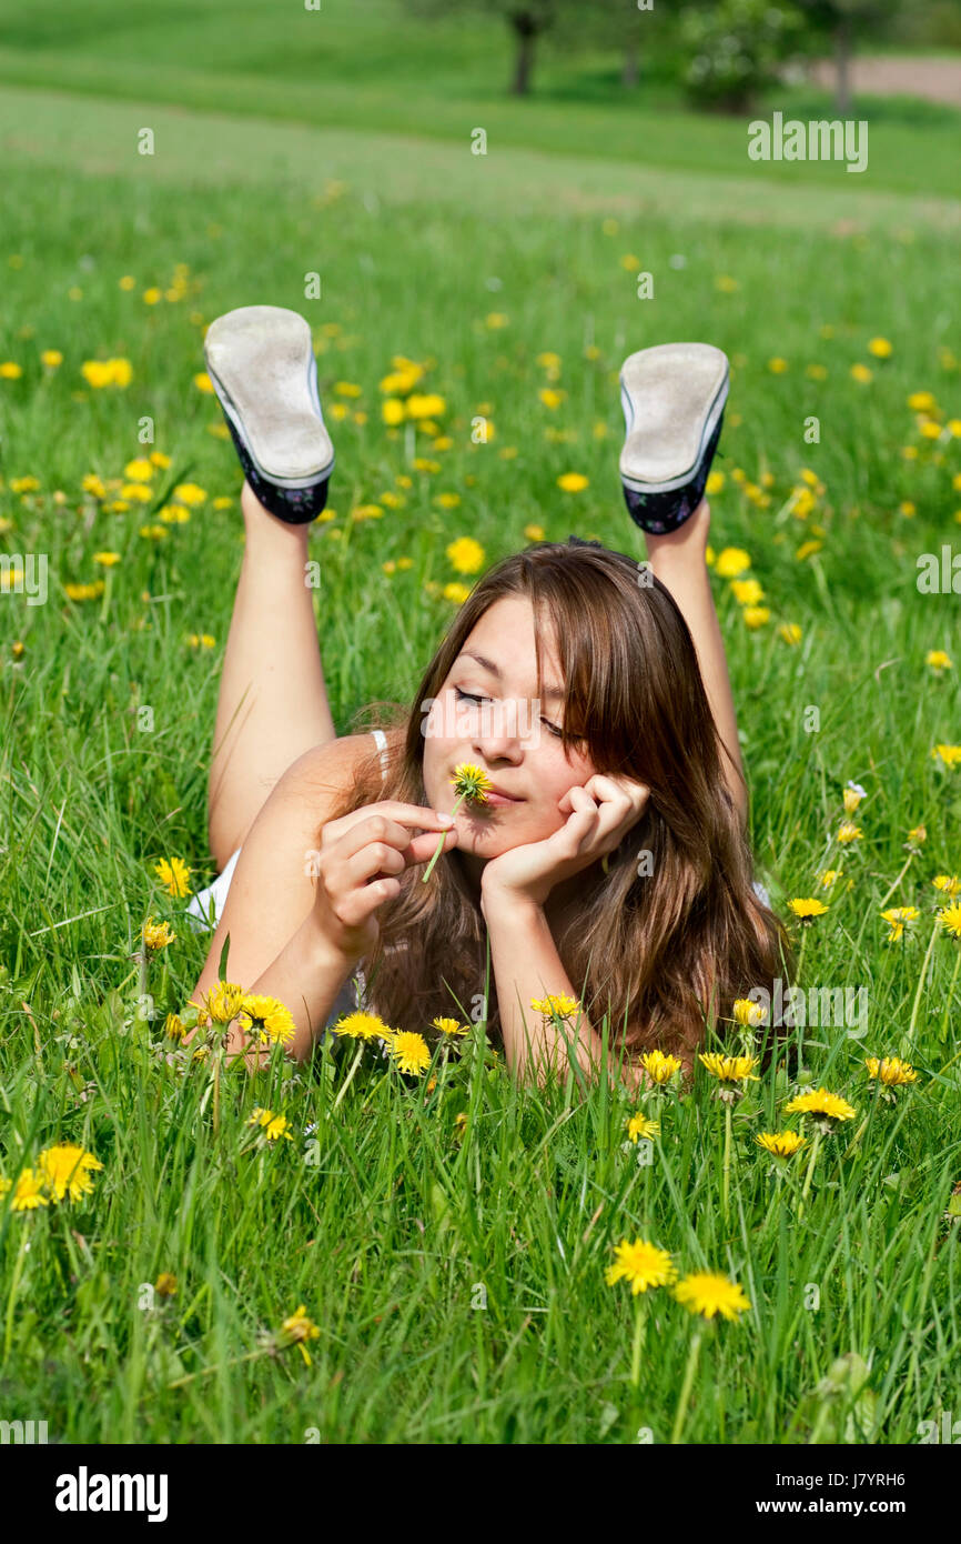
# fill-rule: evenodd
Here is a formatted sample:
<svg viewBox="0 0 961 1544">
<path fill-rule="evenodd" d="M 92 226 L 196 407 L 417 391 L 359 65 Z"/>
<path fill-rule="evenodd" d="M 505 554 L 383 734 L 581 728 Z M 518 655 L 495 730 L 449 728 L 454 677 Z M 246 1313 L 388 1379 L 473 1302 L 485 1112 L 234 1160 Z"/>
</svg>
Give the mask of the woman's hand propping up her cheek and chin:
<svg viewBox="0 0 961 1544">
<path fill-rule="evenodd" d="M 651 789 L 628 777 L 595 774 L 558 801 L 566 823 L 543 841 L 501 852 L 484 865 L 481 900 L 494 891 L 543 906 L 555 885 L 612 852 L 645 812 Z"/>
</svg>

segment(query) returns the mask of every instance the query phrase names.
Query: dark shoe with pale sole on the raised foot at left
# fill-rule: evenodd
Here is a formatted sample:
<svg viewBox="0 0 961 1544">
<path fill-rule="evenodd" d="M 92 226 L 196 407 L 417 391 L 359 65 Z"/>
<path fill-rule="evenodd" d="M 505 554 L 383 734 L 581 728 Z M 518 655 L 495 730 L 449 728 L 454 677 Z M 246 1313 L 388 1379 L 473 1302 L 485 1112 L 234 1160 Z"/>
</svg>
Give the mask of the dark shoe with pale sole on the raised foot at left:
<svg viewBox="0 0 961 1544">
<path fill-rule="evenodd" d="M 211 321 L 204 358 L 247 482 L 288 525 L 327 503 L 333 445 L 310 327 L 282 306 L 241 306 Z"/>
</svg>

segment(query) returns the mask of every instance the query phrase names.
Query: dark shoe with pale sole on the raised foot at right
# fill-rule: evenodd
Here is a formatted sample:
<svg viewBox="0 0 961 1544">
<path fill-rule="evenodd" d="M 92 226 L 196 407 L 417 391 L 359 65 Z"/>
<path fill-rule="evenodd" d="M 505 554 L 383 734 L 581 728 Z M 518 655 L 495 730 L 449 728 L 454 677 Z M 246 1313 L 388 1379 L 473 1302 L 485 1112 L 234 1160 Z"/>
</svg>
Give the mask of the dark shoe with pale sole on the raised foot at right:
<svg viewBox="0 0 961 1544">
<path fill-rule="evenodd" d="M 620 371 L 620 480 L 642 531 L 676 531 L 703 499 L 728 400 L 728 358 L 710 343 L 659 343 Z"/>
</svg>

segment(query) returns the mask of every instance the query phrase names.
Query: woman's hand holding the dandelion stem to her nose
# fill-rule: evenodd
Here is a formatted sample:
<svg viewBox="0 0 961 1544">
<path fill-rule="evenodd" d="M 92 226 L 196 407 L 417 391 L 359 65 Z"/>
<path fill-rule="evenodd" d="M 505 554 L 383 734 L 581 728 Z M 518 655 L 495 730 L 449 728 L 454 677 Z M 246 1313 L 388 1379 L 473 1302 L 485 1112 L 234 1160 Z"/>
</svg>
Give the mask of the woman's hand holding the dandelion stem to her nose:
<svg viewBox="0 0 961 1544">
<path fill-rule="evenodd" d="M 412 837 L 412 831 L 426 835 Z M 398 875 L 429 863 L 444 832 L 444 852 L 457 846 L 457 826 L 433 809 L 381 800 L 329 820 L 321 831 L 313 917 L 324 939 L 352 963 L 376 946 L 376 909 L 401 892 Z"/>
</svg>

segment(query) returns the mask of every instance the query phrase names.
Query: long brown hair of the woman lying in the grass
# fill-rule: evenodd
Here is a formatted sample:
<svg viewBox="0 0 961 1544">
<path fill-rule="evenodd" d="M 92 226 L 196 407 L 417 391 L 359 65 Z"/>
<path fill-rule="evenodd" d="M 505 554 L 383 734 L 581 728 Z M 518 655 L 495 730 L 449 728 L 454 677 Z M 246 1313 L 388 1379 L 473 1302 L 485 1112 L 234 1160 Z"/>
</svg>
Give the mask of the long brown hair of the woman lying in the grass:
<svg viewBox="0 0 961 1544">
<path fill-rule="evenodd" d="M 787 985 L 794 959 L 782 922 L 753 889 L 751 852 L 723 781 L 691 633 L 646 565 L 600 543 L 538 542 L 491 568 L 460 607 L 412 704 L 375 703 L 355 715 L 355 730 L 375 715 L 378 727 L 406 726 L 406 735 L 386 778 L 376 749 L 359 764 L 336 815 L 387 798 L 427 803 L 426 710 L 480 618 L 504 596 L 531 601 L 538 695 L 540 622 L 551 618 L 565 752 L 577 746 L 597 772 L 651 789 L 608 872 L 600 862 L 583 871 L 578 916 L 555 937 L 560 960 L 599 1033 L 609 1011 L 614 1061 L 657 1047 L 690 1065 L 706 1025 L 723 1038 L 734 999 L 753 987 L 773 996 L 774 977 Z M 392 1028 L 424 1031 L 435 1016 L 463 1022 L 484 991 L 486 928 L 460 857 L 457 849 L 443 855 L 429 885 L 420 883 L 423 868 L 407 869 L 401 894 L 378 909 L 379 942 L 364 970 L 370 1008 Z M 495 997 L 492 990 L 487 1033 L 503 1045 Z"/>
</svg>

